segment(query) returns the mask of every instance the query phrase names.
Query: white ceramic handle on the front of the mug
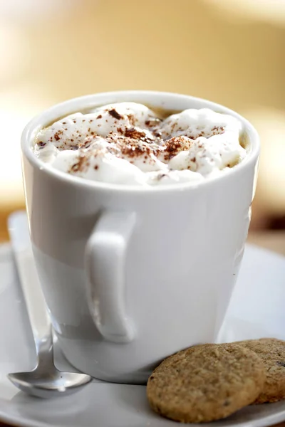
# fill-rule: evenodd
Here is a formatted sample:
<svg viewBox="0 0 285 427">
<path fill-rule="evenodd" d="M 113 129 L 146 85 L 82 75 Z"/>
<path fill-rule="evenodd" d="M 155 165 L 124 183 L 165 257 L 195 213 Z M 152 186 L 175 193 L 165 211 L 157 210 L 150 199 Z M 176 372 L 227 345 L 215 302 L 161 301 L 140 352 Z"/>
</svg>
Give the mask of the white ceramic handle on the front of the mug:
<svg viewBox="0 0 285 427">
<path fill-rule="evenodd" d="M 125 258 L 135 213 L 103 212 L 86 245 L 88 304 L 100 334 L 110 342 L 131 342 L 133 324 L 125 313 Z"/>
</svg>

